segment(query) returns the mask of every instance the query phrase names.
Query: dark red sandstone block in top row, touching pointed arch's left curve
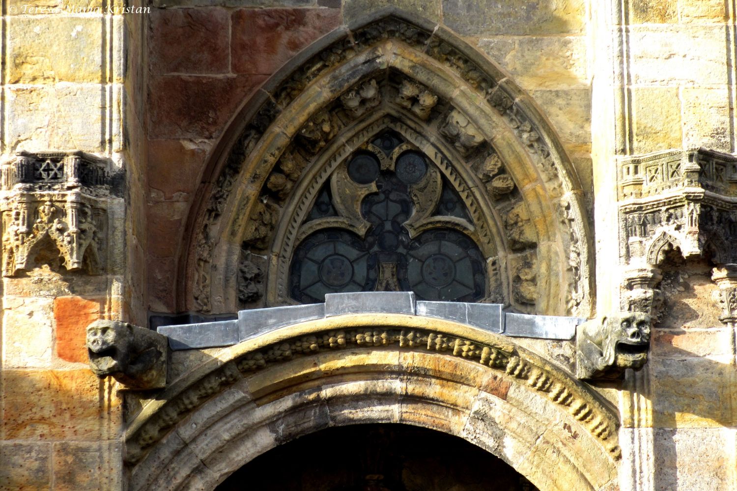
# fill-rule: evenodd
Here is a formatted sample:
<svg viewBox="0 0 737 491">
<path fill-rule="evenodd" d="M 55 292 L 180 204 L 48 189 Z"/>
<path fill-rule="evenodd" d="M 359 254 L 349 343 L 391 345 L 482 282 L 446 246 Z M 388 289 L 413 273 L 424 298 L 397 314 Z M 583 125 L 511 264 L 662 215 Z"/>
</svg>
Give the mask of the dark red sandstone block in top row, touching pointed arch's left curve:
<svg viewBox="0 0 737 491">
<path fill-rule="evenodd" d="M 232 70 L 273 74 L 302 48 L 338 27 L 341 20 L 338 9 L 235 10 Z"/>
</svg>

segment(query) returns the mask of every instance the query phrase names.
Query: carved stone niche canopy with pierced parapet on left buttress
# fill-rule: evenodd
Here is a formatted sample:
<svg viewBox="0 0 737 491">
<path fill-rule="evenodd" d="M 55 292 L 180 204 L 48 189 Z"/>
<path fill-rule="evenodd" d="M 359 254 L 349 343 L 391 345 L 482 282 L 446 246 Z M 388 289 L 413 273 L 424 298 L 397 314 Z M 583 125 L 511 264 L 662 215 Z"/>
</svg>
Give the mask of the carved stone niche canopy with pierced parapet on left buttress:
<svg viewBox="0 0 737 491">
<path fill-rule="evenodd" d="M 105 160 L 82 152 L 19 153 L 1 165 L 4 276 L 33 268 L 35 245 L 45 240 L 67 271 L 104 271 L 107 167 Z M 55 262 L 48 254 L 39 258 Z"/>
</svg>

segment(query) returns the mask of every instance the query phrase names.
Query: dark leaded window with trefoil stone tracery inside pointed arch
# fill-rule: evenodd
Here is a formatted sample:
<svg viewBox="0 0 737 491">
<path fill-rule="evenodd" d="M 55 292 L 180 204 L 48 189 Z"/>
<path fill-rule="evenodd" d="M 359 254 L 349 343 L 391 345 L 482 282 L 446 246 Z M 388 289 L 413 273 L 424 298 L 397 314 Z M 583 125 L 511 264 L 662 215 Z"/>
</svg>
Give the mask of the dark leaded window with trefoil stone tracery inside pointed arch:
<svg viewBox="0 0 737 491">
<path fill-rule="evenodd" d="M 377 290 L 478 302 L 489 290 L 467 207 L 436 165 L 397 133 L 377 136 L 335 170 L 303 228 L 311 233 L 290 263 L 296 302 Z"/>
</svg>

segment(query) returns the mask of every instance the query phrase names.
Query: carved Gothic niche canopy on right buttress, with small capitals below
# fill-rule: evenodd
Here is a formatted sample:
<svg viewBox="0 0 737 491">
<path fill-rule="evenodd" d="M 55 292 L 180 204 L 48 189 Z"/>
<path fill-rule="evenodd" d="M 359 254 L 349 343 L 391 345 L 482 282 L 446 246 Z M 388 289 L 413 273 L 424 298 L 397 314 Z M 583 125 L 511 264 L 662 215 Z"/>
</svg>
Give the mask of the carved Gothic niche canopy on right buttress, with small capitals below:
<svg viewBox="0 0 737 491">
<path fill-rule="evenodd" d="M 669 251 L 708 256 L 724 268 L 737 262 L 737 156 L 699 148 L 627 157 L 619 163 L 618 193 L 624 310 L 657 317 L 657 266 Z M 724 279 L 720 289 L 727 291 L 724 268 L 714 279 Z"/>
</svg>

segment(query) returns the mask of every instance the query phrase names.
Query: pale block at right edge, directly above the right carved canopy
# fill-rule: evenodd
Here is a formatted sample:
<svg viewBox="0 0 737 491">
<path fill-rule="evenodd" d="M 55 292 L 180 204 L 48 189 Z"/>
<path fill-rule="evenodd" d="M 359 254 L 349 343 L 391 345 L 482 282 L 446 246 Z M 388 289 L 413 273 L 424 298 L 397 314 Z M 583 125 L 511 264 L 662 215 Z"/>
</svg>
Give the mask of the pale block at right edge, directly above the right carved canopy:
<svg viewBox="0 0 737 491">
<path fill-rule="evenodd" d="M 731 129 L 730 95 L 727 89 L 684 87 L 681 97 L 683 146 L 730 152 L 734 130 Z"/>
</svg>

